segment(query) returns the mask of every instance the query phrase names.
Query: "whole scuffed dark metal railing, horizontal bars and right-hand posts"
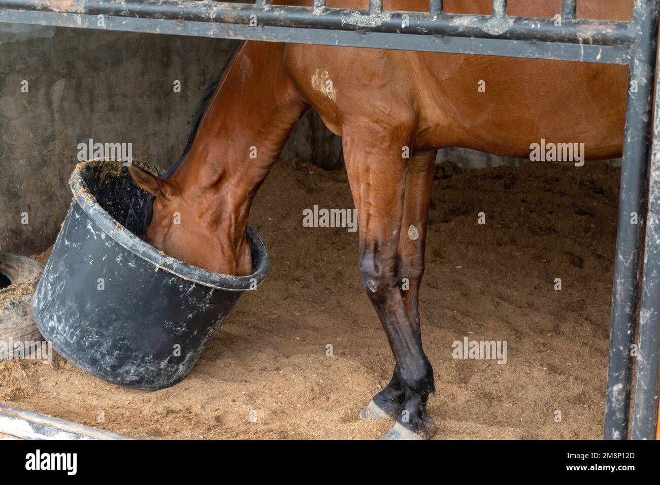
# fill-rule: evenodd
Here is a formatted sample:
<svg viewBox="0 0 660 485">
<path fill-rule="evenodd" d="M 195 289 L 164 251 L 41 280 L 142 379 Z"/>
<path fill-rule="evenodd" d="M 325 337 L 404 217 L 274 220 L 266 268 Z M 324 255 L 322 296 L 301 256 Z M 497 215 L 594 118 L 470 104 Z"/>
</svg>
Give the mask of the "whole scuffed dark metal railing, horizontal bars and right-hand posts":
<svg viewBox="0 0 660 485">
<path fill-rule="evenodd" d="M 502 55 L 624 64 L 630 67 L 619 220 L 612 292 L 605 437 L 628 436 L 633 358 L 638 333 L 633 438 L 655 437 L 660 345 L 660 96 L 656 96 L 649 191 L 651 122 L 660 0 L 634 0 L 628 22 L 579 19 L 577 0 L 563 0 L 560 25 L 552 18 L 507 15 L 507 1 L 493 0 L 492 15 L 446 13 L 442 0 L 428 12 L 384 11 L 382 0 L 368 10 L 332 9 L 325 0 L 311 7 L 210 0 L 0 0 L 0 22 L 104 28 L 159 34 Z M 97 16 L 106 16 L 99 26 Z M 639 224 L 648 195 L 641 305 Z M 640 308 L 640 325 L 636 313 Z"/>
</svg>

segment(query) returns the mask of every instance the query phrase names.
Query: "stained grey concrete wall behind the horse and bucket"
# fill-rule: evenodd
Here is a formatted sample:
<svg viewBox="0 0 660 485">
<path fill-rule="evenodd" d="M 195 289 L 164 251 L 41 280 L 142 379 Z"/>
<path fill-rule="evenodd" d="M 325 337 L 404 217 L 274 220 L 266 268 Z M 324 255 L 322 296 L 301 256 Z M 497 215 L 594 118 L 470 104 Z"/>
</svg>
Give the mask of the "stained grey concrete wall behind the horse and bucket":
<svg viewBox="0 0 660 485">
<path fill-rule="evenodd" d="M 35 253 L 53 242 L 79 143 L 132 143 L 139 160 L 176 161 L 234 42 L 0 24 L 0 250 Z M 309 112 L 283 156 L 337 164 L 341 139 Z"/>
</svg>

